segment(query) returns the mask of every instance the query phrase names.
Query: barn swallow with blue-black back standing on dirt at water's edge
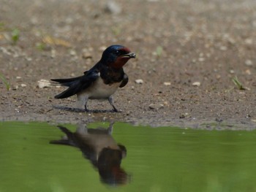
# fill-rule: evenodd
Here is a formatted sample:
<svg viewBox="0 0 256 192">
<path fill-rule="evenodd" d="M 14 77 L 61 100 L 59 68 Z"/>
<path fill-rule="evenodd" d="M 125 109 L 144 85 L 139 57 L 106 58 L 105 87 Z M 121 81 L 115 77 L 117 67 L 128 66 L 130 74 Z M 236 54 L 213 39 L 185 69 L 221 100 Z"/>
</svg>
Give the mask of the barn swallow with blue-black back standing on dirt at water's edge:
<svg viewBox="0 0 256 192">
<path fill-rule="evenodd" d="M 123 66 L 130 58 L 135 58 L 129 48 L 122 45 L 111 45 L 103 53 L 102 58 L 89 71 L 80 77 L 69 79 L 53 79 L 60 85 L 67 86 L 67 90 L 55 96 L 56 99 L 64 99 L 77 95 L 78 103 L 87 110 L 89 99 L 108 99 L 114 112 L 118 112 L 113 104 L 113 93 L 118 88 L 127 85 L 128 76 L 124 73 Z"/>
</svg>

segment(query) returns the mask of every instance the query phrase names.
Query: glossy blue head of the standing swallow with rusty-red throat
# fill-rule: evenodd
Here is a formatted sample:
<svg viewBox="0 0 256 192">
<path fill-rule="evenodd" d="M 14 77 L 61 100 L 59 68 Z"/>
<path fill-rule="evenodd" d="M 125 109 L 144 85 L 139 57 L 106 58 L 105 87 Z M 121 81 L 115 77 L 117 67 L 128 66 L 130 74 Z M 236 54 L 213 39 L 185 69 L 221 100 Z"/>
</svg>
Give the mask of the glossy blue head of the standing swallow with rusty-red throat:
<svg viewBox="0 0 256 192">
<path fill-rule="evenodd" d="M 102 64 L 119 69 L 124 66 L 130 58 L 135 57 L 136 54 L 131 53 L 127 47 L 122 45 L 111 45 L 102 53 L 101 62 Z"/>
</svg>

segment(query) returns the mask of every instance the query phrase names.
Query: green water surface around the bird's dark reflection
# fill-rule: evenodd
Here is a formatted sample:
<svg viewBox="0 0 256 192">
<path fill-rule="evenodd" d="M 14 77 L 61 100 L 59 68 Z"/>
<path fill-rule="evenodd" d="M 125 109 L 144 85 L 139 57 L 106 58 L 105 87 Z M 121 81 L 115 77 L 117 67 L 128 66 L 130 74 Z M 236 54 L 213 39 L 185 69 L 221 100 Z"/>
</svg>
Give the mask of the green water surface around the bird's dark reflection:
<svg viewBox="0 0 256 192">
<path fill-rule="evenodd" d="M 75 131 L 75 125 L 63 125 Z M 108 123 L 92 123 L 89 128 Z M 0 191 L 256 191 L 256 131 L 203 131 L 115 123 L 126 184 L 102 183 L 78 147 L 48 123 L 0 123 Z"/>
</svg>

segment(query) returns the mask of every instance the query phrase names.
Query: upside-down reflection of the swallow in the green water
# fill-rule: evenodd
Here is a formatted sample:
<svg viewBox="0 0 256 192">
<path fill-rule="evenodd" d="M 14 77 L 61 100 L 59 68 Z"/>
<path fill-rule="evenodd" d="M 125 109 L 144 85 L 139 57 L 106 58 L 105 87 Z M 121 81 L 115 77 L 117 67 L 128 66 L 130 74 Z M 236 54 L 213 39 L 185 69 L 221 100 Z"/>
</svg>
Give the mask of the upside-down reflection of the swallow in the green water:
<svg viewBox="0 0 256 192">
<path fill-rule="evenodd" d="M 64 126 L 58 128 L 66 136 L 50 143 L 80 148 L 85 158 L 98 169 L 102 183 L 121 185 L 129 182 L 129 174 L 120 166 L 122 158 L 127 155 L 127 150 L 124 145 L 118 145 L 113 139 L 113 123 L 110 123 L 107 129 L 86 128 L 80 125 L 74 133 Z"/>
</svg>

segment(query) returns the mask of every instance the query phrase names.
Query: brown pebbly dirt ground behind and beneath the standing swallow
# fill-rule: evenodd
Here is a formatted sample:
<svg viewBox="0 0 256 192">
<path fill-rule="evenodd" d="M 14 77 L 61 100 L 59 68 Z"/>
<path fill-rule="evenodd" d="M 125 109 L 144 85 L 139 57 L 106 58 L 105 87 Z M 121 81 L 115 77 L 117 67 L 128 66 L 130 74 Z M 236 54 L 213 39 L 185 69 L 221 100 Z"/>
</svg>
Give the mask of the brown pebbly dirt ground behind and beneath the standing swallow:
<svg viewBox="0 0 256 192">
<path fill-rule="evenodd" d="M 0 4 L 1 120 L 256 128 L 255 0 Z M 75 96 L 54 99 L 64 88 L 38 88 L 42 79 L 83 74 L 114 44 L 138 55 L 124 67 L 128 85 L 115 93 L 121 112 L 108 101 L 74 110 Z"/>
</svg>

